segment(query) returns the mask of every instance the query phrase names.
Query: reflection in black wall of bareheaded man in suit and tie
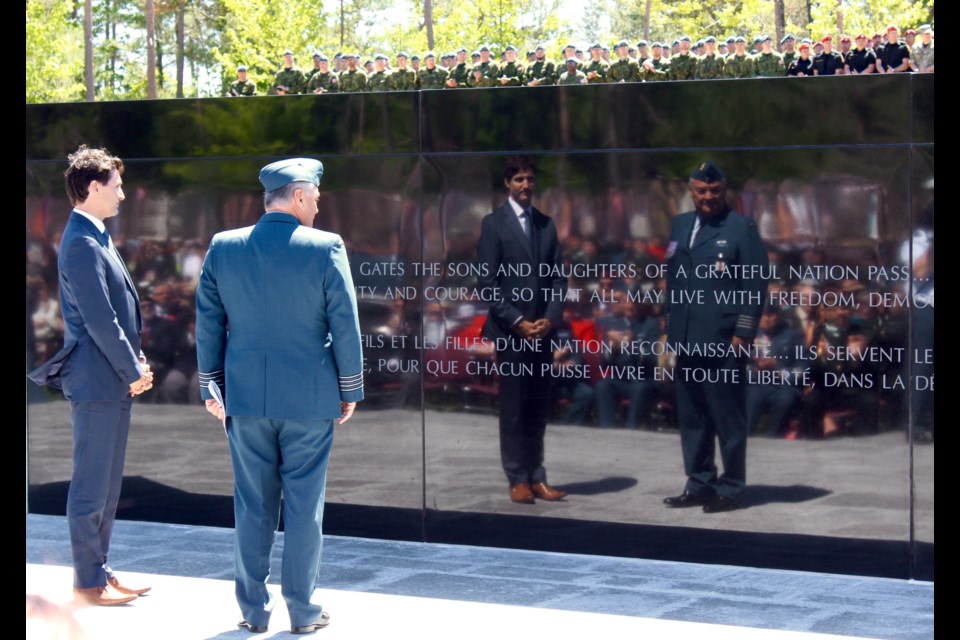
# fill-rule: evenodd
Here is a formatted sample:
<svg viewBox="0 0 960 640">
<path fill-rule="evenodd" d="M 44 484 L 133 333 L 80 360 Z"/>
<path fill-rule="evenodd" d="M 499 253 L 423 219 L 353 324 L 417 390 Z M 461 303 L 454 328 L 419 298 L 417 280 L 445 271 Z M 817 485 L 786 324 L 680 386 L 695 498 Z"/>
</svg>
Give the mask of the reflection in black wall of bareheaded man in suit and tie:
<svg viewBox="0 0 960 640">
<path fill-rule="evenodd" d="M 500 457 L 510 499 L 559 500 L 547 484 L 543 437 L 553 358 L 549 338 L 563 320 L 567 280 L 560 273 L 560 243 L 553 220 L 531 204 L 533 164 L 510 158 L 503 171 L 507 202 L 483 219 L 477 255 L 482 287 L 496 296 L 483 335 L 496 341 L 500 377 Z"/>
</svg>

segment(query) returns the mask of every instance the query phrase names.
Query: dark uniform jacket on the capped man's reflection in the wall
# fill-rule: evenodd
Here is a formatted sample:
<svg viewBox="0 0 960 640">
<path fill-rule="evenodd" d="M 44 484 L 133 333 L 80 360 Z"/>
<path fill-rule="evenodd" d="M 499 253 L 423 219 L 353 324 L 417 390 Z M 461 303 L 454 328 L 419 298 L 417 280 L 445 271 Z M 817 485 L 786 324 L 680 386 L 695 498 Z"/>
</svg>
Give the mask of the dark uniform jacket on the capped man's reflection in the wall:
<svg viewBox="0 0 960 640">
<path fill-rule="evenodd" d="M 729 344 L 734 336 L 753 338 L 769 265 L 757 224 L 728 209 L 700 227 L 691 247 L 696 219 L 695 211 L 673 219 L 667 247 L 667 340 Z M 689 298 L 698 291 L 702 303 Z"/>
</svg>

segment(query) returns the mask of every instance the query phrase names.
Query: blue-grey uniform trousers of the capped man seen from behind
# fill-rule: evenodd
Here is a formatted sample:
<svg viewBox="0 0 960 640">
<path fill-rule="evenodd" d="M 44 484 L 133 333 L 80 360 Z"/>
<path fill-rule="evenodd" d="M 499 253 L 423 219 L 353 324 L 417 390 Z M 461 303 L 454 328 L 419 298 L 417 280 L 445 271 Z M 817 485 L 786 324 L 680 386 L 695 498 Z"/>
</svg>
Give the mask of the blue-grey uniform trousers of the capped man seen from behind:
<svg viewBox="0 0 960 640">
<path fill-rule="evenodd" d="M 316 622 L 323 607 L 310 599 L 320 570 L 333 421 L 230 417 L 227 433 L 234 478 L 236 595 L 243 619 L 266 626 L 273 610 L 267 579 L 282 496 L 280 592 L 291 625 Z"/>
</svg>

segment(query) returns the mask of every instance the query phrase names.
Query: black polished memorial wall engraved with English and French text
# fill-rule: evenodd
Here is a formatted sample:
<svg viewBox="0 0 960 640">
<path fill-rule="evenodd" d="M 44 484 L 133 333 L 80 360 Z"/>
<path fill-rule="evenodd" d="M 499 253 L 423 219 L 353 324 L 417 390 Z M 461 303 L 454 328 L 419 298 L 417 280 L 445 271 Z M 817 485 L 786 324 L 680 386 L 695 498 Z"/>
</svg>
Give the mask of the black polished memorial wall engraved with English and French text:
<svg viewBox="0 0 960 640">
<path fill-rule="evenodd" d="M 193 295 L 210 237 L 262 212 L 263 164 L 326 167 L 316 226 L 350 252 L 367 400 L 338 427 L 328 533 L 891 577 L 933 577 L 933 78 L 861 77 L 39 105 L 26 108 L 27 365 L 59 348 L 61 173 L 80 143 L 127 162 L 108 222 L 138 283 L 159 381 L 138 401 L 122 518 L 232 524 L 222 431 L 198 400 Z M 484 215 L 512 153 L 556 222 L 568 340 L 546 468 L 519 505 L 500 468 L 509 374 L 479 340 Z M 744 508 L 670 510 L 683 487 L 663 255 L 710 159 L 757 221 L 769 384 L 751 363 Z M 282 313 L 283 310 L 277 310 Z M 769 340 L 770 338 L 763 338 Z M 621 352 L 622 353 L 622 352 Z M 616 368 L 615 368 L 616 367 Z M 613 382 L 612 382 L 613 381 Z M 763 381 L 765 384 L 754 384 Z M 778 412 L 779 411 L 779 412 Z M 28 388 L 28 506 L 62 513 L 69 411 Z"/>
</svg>

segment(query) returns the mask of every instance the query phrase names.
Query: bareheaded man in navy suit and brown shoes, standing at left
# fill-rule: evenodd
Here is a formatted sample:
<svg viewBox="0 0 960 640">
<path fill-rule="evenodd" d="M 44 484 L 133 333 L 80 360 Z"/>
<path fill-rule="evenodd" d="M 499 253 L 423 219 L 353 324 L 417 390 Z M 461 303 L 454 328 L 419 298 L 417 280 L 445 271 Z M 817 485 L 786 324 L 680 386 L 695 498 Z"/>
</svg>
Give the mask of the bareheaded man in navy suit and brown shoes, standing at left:
<svg viewBox="0 0 960 640">
<path fill-rule="evenodd" d="M 93 604 L 123 604 L 149 590 L 122 584 L 107 566 L 107 554 L 133 396 L 153 386 L 153 374 L 140 350 L 140 300 L 104 226 L 120 212 L 123 161 L 85 146 L 68 160 L 64 176 L 74 209 L 57 264 L 64 344 L 30 379 L 62 388 L 70 400 L 67 523 L 74 591 Z"/>
</svg>

